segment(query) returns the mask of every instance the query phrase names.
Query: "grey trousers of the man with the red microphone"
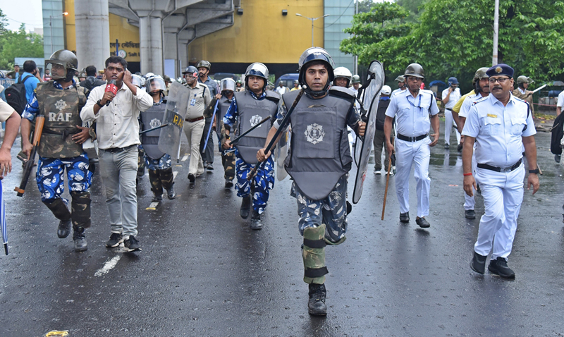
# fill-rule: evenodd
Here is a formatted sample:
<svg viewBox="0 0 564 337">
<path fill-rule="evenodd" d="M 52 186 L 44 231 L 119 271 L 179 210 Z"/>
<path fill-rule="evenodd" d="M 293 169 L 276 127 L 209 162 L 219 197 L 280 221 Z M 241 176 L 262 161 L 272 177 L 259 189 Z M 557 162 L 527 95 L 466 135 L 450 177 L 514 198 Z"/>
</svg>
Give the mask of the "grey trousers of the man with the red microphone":
<svg viewBox="0 0 564 337">
<path fill-rule="evenodd" d="M 114 153 L 100 149 L 98 158 L 111 232 L 137 235 L 137 145 Z"/>
</svg>

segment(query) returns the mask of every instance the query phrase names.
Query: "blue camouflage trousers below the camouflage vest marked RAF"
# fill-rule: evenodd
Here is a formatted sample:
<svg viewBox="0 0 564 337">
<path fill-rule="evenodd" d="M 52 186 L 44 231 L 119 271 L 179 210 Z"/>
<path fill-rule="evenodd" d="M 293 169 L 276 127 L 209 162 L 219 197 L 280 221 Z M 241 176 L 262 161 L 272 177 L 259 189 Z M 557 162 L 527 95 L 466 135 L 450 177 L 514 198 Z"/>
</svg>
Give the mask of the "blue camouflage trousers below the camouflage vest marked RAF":
<svg viewBox="0 0 564 337">
<path fill-rule="evenodd" d="M 42 158 L 39 157 L 35 180 L 41 192 L 41 201 L 61 198 L 65 191 L 64 173 L 68 178 L 68 190 L 84 192 L 92 185 L 92 172 L 88 170 L 88 156 L 86 152 L 73 158 Z"/>
</svg>

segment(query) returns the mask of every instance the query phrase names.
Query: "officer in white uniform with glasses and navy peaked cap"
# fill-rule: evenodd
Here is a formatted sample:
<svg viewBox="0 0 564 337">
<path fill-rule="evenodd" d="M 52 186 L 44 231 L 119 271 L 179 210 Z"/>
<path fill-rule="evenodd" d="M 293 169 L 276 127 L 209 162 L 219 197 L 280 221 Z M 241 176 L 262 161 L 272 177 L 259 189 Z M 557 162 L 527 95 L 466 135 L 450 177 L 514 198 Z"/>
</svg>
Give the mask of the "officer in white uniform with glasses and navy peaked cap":
<svg viewBox="0 0 564 337">
<path fill-rule="evenodd" d="M 488 270 L 503 278 L 515 278 L 507 265 L 517 230 L 517 216 L 523 201 L 525 152 L 529 163 L 527 188 L 539 190 L 537 147 L 533 118 L 527 102 L 511 94 L 513 68 L 498 64 L 486 71 L 491 94 L 470 108 L 462 135 L 464 190 L 473 195 L 479 183 L 484 197 L 485 214 L 480 219 L 478 238 L 470 267 L 484 274 L 486 257 L 491 252 Z M 472 147 L 476 146 L 476 176 L 472 174 Z"/>
</svg>

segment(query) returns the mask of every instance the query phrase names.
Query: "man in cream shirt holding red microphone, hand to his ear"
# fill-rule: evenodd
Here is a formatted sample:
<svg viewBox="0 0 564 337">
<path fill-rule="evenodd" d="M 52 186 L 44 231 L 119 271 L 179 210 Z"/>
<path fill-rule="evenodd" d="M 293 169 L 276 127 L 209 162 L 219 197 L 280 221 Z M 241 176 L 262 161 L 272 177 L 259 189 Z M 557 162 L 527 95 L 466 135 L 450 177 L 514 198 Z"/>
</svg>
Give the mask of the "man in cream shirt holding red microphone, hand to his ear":
<svg viewBox="0 0 564 337">
<path fill-rule="evenodd" d="M 115 80 L 117 91 L 106 92 L 106 86 L 94 87 L 80 118 L 97 122 L 100 175 L 106 189 L 106 204 L 110 216 L 111 236 L 106 247 L 140 250 L 137 235 L 137 145 L 140 111 L 153 106 L 152 97 L 131 82 L 128 63 L 119 56 L 106 59 L 104 74 Z"/>
</svg>

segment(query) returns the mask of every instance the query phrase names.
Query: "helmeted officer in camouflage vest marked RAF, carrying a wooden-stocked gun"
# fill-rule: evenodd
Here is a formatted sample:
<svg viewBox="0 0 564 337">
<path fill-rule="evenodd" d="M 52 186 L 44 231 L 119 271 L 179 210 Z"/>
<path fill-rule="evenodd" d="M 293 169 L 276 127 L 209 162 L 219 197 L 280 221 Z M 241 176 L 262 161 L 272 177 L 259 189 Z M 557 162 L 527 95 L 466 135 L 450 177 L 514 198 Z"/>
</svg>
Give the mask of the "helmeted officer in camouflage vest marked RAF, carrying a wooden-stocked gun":
<svg viewBox="0 0 564 337">
<path fill-rule="evenodd" d="M 92 171 L 82 143 L 90 135 L 83 128 L 80 109 L 85 106 L 87 89 L 77 85 L 73 76 L 78 68 L 78 59 L 72 51 L 55 51 L 45 68 L 51 71 L 49 82 L 37 85 L 30 101 L 25 106 L 21 124 L 23 152 L 30 157 L 32 144 L 29 141 L 31 123 L 37 114 L 45 116 L 42 137 L 37 152 L 37 187 L 41 201 L 60 220 L 57 235 L 66 238 L 73 227 L 75 251 L 88 249 L 85 228 L 90 227 L 90 185 Z M 68 200 L 61 198 L 64 192 L 63 173 L 66 169 L 68 189 L 73 201 L 69 212 Z"/>
</svg>

